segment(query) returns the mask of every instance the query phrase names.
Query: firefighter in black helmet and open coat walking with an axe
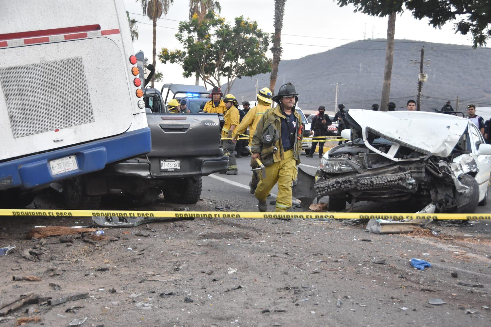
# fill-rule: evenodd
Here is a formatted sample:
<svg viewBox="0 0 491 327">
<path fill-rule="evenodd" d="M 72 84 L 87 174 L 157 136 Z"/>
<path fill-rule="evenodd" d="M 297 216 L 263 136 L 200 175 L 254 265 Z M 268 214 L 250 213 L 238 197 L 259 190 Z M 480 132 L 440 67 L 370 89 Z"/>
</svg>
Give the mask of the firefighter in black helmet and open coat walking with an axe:
<svg viewBox="0 0 491 327">
<path fill-rule="evenodd" d="M 261 176 L 254 193 L 259 211 L 268 209 L 266 200 L 276 183 L 275 211 L 292 207 L 292 182 L 297 178 L 304 129 L 300 113 L 295 110 L 298 95 L 292 83 L 282 85 L 273 97 L 278 105 L 263 114 L 252 137 L 252 159 L 260 158 L 266 166 L 266 176 Z"/>
</svg>

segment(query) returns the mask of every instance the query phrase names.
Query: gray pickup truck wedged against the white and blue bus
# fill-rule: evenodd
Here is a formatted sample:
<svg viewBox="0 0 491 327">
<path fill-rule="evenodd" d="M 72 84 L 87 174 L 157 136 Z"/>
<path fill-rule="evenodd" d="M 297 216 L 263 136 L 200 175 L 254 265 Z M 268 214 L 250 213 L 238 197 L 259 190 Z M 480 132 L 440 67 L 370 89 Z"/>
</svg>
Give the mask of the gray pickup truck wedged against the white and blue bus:
<svg viewBox="0 0 491 327">
<path fill-rule="evenodd" d="M 145 84 L 150 77 L 145 77 Z M 68 208 L 97 208 L 102 196 L 114 193 L 122 193 L 127 205 L 147 205 L 161 190 L 170 202 L 196 203 L 201 177 L 227 170 L 228 156 L 220 148 L 221 114 L 169 113 L 157 89 L 143 91 L 152 151 L 52 185 Z"/>
</svg>

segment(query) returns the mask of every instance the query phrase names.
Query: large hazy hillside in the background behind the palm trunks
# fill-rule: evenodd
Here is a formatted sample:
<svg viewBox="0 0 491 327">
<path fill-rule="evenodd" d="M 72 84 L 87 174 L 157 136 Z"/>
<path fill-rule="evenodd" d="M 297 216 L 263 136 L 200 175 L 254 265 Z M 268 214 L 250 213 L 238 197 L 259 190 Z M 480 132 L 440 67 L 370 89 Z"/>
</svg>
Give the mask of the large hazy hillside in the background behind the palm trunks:
<svg viewBox="0 0 491 327">
<path fill-rule="evenodd" d="M 372 103 L 380 104 L 386 44 L 384 39 L 374 41 L 381 42 L 356 41 L 300 59 L 283 60 L 276 90 L 284 75 L 285 82 L 291 81 L 297 87 L 301 95 L 300 107 L 304 109 L 317 109 L 323 104 L 333 110 L 334 92 L 331 90 L 335 86 L 331 84 L 334 83 L 342 84 L 338 103 L 348 108 L 368 109 Z M 428 82 L 423 83 L 422 110 L 439 109 L 447 99 L 455 109 L 457 96 L 461 111 L 468 103 L 491 104 L 490 48 L 473 50 L 470 46 L 396 40 L 390 98 L 398 108 L 405 106 L 409 99 L 416 100 L 419 65 L 411 67 L 409 60 L 419 61 L 422 46 L 424 61 L 431 60 L 429 67 L 424 66 Z M 269 86 L 270 74 L 254 78 L 260 79 L 259 88 Z M 231 93 L 239 100 L 253 99 L 255 84 L 255 79 L 244 77 L 235 81 Z"/>
</svg>

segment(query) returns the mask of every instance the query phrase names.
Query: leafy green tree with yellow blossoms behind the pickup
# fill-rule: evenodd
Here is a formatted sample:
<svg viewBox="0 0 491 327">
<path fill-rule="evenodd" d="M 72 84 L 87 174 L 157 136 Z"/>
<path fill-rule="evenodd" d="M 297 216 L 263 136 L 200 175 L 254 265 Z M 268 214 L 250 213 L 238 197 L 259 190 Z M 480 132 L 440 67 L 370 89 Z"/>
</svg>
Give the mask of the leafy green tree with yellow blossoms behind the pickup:
<svg viewBox="0 0 491 327">
<path fill-rule="evenodd" d="M 182 47 L 176 50 L 163 48 L 159 60 L 182 66 L 184 77 L 197 73 L 205 83 L 221 86 L 226 78 L 230 92 L 235 80 L 271 72 L 270 60 L 266 57 L 269 48 L 268 34 L 258 28 L 257 22 L 243 16 L 236 17 L 234 24 L 209 11 L 202 22 L 194 14 L 189 22 L 179 24 L 176 39 Z"/>
</svg>

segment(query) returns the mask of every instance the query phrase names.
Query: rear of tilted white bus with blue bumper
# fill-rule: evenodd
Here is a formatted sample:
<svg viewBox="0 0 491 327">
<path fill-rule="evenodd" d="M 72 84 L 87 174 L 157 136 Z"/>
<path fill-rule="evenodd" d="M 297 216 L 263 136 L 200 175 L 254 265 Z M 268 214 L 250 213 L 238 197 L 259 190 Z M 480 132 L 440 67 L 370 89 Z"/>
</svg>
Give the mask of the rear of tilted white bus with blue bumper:
<svg viewBox="0 0 491 327">
<path fill-rule="evenodd" d="M 151 150 L 122 0 L 9 1 L 0 21 L 0 204 Z"/>
</svg>

